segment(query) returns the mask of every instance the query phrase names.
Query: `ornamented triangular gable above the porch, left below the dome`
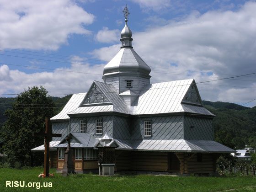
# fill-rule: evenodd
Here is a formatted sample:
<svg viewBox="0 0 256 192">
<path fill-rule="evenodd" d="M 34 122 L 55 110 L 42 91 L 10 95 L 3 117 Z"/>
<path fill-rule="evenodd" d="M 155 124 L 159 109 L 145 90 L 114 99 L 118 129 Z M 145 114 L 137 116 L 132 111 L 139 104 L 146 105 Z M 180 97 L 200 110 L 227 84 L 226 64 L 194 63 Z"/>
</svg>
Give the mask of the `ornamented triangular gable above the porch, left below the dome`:
<svg viewBox="0 0 256 192">
<path fill-rule="evenodd" d="M 109 103 L 107 97 L 99 89 L 95 82 L 91 85 L 90 90 L 87 92 L 85 99 L 80 105 L 92 104 L 92 103 Z"/>
</svg>

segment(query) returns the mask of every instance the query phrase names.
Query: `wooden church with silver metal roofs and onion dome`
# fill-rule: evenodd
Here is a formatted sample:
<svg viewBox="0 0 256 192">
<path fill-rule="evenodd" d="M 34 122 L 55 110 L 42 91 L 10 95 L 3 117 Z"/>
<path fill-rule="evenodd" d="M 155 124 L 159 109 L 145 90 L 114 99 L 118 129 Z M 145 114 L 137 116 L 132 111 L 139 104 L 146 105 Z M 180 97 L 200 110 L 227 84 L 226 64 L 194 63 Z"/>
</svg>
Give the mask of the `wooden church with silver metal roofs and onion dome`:
<svg viewBox="0 0 256 192">
<path fill-rule="evenodd" d="M 127 22 L 103 82 L 74 94 L 51 118 L 52 133 L 62 134 L 50 142 L 51 165 L 62 171 L 69 135 L 77 173 L 98 170 L 100 159 L 112 161 L 106 165 L 114 171 L 215 172 L 219 155 L 234 150 L 213 141 L 214 115 L 203 107 L 195 80 L 150 84 L 151 69 L 133 50 Z M 102 147 L 111 149 L 103 159 Z"/>
</svg>

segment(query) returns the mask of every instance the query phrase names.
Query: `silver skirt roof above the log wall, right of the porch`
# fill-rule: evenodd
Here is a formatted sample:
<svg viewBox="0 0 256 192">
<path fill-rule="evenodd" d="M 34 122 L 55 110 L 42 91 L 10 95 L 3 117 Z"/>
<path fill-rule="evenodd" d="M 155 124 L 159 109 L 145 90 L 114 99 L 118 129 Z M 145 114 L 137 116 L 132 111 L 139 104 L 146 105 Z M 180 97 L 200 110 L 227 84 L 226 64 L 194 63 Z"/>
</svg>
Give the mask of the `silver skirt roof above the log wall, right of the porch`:
<svg viewBox="0 0 256 192">
<path fill-rule="evenodd" d="M 115 139 L 120 149 L 182 151 L 182 152 L 216 152 L 231 153 L 235 150 L 210 140 L 124 140 Z"/>
</svg>

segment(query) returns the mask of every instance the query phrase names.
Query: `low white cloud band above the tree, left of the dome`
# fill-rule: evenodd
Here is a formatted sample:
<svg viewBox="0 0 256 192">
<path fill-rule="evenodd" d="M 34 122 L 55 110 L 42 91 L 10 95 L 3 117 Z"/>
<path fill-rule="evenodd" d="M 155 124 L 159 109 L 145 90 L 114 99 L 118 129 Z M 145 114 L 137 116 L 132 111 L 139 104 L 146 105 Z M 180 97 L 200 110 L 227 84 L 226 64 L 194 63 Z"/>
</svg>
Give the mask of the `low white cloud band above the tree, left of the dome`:
<svg viewBox="0 0 256 192">
<path fill-rule="evenodd" d="M 52 72 L 32 74 L 26 74 L 19 70 L 10 70 L 7 65 L 2 65 L 0 66 L 0 93 L 20 93 L 27 87 L 40 85 L 45 86 L 49 94 L 86 92 L 93 80 L 101 81 L 104 65 L 88 66 L 89 63 L 84 63 L 86 60 L 78 57 L 74 59 L 80 61 L 73 62 L 70 67 L 58 68 Z"/>
</svg>

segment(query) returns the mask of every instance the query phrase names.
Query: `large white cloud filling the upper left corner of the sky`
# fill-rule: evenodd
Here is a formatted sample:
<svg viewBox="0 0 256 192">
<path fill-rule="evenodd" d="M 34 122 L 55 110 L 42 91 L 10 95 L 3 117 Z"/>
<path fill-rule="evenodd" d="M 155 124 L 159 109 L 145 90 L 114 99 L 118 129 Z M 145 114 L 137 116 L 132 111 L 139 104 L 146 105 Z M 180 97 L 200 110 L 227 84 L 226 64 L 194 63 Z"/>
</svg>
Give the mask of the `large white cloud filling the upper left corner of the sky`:
<svg viewBox="0 0 256 192">
<path fill-rule="evenodd" d="M 57 50 L 93 20 L 72 0 L 1 0 L 0 47 Z"/>
</svg>

